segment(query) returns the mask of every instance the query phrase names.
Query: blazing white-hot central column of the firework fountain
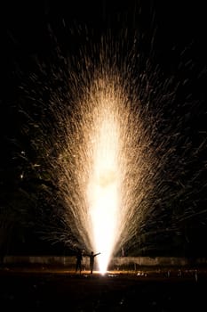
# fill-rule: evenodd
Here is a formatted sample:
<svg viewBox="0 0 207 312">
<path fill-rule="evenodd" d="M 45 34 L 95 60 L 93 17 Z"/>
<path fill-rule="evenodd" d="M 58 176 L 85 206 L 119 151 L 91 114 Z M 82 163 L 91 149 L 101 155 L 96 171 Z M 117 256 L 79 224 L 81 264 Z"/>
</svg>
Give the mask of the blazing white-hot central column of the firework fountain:
<svg viewBox="0 0 207 312">
<path fill-rule="evenodd" d="M 111 99 L 100 99 L 100 116 L 92 133 L 92 173 L 88 184 L 89 213 L 92 218 L 92 246 L 101 250 L 100 271 L 107 264 L 117 240 L 120 223 L 121 135 Z M 107 101 L 109 104 L 107 104 Z"/>
</svg>

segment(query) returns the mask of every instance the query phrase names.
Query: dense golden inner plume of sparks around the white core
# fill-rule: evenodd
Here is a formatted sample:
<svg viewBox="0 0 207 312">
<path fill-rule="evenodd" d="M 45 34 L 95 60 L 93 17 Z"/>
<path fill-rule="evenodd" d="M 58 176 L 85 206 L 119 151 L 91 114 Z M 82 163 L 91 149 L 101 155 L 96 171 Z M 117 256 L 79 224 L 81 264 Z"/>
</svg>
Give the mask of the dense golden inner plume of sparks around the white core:
<svg viewBox="0 0 207 312">
<path fill-rule="evenodd" d="M 120 238 L 129 240 L 134 234 L 133 218 L 144 199 L 143 188 L 150 192 L 153 185 L 153 179 L 145 181 L 147 171 L 153 175 L 149 138 L 144 133 L 139 113 L 131 111 L 131 103 L 117 81 L 115 75 L 94 80 L 88 98 L 78 108 L 79 121 L 76 121 L 77 111 L 70 120 L 76 127 L 75 149 L 72 149 L 76 163 L 76 196 L 82 198 L 82 202 L 77 204 L 75 196 L 77 206 L 73 205 L 69 187 L 62 193 L 67 206 L 72 208 L 79 235 L 88 237 L 86 245 L 101 252 L 101 272 L 106 272 L 113 252 L 120 248 Z M 70 130 L 68 137 L 69 133 Z M 64 151 L 64 158 L 71 159 L 70 140 L 68 145 L 70 148 Z M 60 190 L 63 185 L 71 184 L 69 177 L 72 175 L 71 164 L 61 160 L 60 156 Z M 139 218 L 143 216 L 142 209 Z"/>
</svg>

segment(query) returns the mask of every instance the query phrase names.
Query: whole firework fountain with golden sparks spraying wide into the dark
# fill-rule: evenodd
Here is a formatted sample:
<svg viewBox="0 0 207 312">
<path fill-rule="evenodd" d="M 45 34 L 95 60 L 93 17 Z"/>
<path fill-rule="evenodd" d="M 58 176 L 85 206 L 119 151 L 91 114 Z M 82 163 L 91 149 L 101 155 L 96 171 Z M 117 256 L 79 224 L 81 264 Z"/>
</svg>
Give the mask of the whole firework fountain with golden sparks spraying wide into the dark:
<svg viewBox="0 0 207 312">
<path fill-rule="evenodd" d="M 186 112 L 180 116 L 173 105 L 178 85 L 171 78 L 162 83 L 148 56 L 143 66 L 136 36 L 131 48 L 127 33 L 122 36 L 118 44 L 101 38 L 71 57 L 58 48 L 55 61 L 38 61 L 23 86 L 32 103 L 21 110 L 25 131 L 64 208 L 54 209 L 60 221 L 55 230 L 45 226 L 44 232 L 100 252 L 101 272 L 122 246 L 147 231 L 146 220 L 150 230 L 164 231 L 163 218 L 175 201 L 194 201 L 200 175 L 198 170 L 187 187 L 182 184 L 199 148 L 195 152 L 183 133 Z M 194 213 L 195 206 L 181 206 L 171 229 Z"/>
</svg>

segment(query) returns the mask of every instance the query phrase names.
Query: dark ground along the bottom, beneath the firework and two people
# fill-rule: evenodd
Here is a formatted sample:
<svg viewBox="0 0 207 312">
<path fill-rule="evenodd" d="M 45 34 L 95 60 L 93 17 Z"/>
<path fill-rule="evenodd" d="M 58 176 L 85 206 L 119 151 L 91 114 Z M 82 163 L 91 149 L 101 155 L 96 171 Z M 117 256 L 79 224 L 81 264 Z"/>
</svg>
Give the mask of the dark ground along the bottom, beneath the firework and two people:
<svg viewBox="0 0 207 312">
<path fill-rule="evenodd" d="M 207 308 L 205 269 L 81 275 L 60 267 L 0 269 L 5 311 L 187 311 Z"/>
</svg>

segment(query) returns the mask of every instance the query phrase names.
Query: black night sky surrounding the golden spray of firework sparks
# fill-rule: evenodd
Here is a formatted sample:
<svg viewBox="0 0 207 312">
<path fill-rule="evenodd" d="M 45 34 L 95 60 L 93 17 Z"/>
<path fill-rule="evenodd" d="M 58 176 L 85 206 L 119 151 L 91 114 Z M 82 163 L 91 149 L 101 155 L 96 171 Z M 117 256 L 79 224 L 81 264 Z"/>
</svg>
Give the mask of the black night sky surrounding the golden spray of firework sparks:
<svg viewBox="0 0 207 312">
<path fill-rule="evenodd" d="M 25 117 L 20 114 L 20 103 L 29 105 L 22 92 L 25 84 L 29 87 L 27 77 L 36 72 L 37 63 L 54 62 L 57 49 L 68 56 L 78 53 L 79 47 L 87 43 L 85 32 L 78 30 L 77 36 L 71 29 L 88 29 L 91 44 L 99 42 L 108 30 L 112 37 L 118 38 L 121 30 L 127 29 L 129 40 L 134 33 L 139 34 L 143 66 L 150 59 L 152 68 L 159 66 L 162 72 L 163 86 L 165 79 L 170 78 L 178 85 L 175 103 L 169 105 L 176 106 L 182 122 L 185 121 L 187 142 L 192 151 L 198 151 L 194 153 L 195 159 L 189 161 L 187 174 L 183 177 L 185 184 L 198 173 L 186 201 L 186 205 L 195 205 L 195 213 L 180 218 L 176 231 L 168 233 L 171 218 L 167 209 L 162 217 L 161 210 L 156 218 L 165 222 L 162 234 L 158 234 L 158 219 L 150 220 L 145 231 L 152 234 L 135 246 L 131 244 L 128 254 L 207 256 L 207 25 L 203 4 L 149 0 L 121 4 L 120 1 L 101 0 L 8 1 L 1 6 L 0 252 L 60 255 L 71 252 L 67 243 L 47 242 L 41 234 L 42 221 L 36 207 L 40 202 L 43 204 L 43 219 L 49 219 L 52 212 L 49 204 L 43 203 L 45 194 L 38 190 L 40 185 L 52 188 L 53 193 L 56 190 L 50 178 L 36 174 L 36 169 L 32 168 L 31 163 L 36 162 L 37 155 L 30 147 L 27 134 L 22 133 Z M 32 113 L 32 108 L 29 110 Z M 169 113 L 171 110 L 166 105 L 163 110 L 166 122 L 171 122 Z M 163 125 L 158 130 L 160 135 L 166 135 Z M 173 213 L 176 214 L 179 205 L 180 202 Z M 142 251 L 139 251 L 140 247 Z"/>
</svg>

